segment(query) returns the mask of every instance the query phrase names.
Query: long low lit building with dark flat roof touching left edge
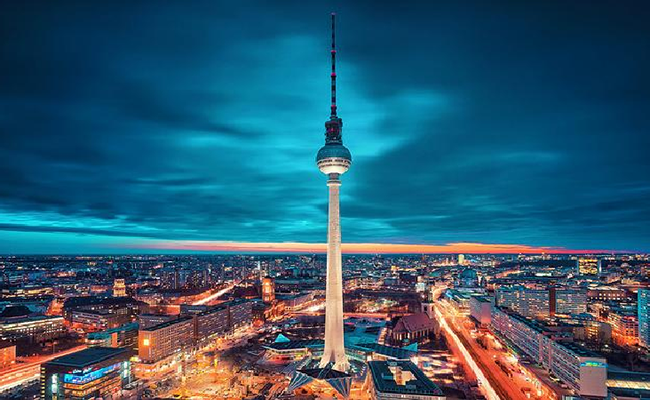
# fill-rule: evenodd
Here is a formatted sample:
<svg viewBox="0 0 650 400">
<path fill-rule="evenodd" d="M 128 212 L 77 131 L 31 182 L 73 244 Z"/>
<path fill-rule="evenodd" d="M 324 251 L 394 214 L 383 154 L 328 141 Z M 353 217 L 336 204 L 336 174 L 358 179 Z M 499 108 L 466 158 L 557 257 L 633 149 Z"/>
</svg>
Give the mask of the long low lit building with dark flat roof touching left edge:
<svg viewBox="0 0 650 400">
<path fill-rule="evenodd" d="M 0 340 L 44 342 L 56 339 L 67 332 L 63 317 L 48 315 L 30 315 L 10 317 L 0 320 Z"/>
</svg>

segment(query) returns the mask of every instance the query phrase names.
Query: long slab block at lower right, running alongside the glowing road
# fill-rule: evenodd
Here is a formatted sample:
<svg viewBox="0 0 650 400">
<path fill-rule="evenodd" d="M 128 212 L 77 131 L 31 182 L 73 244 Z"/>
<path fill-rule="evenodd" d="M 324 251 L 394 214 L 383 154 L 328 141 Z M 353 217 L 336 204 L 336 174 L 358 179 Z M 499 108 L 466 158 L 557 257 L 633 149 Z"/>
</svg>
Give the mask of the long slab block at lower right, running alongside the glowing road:
<svg viewBox="0 0 650 400">
<path fill-rule="evenodd" d="M 578 395 L 607 396 L 607 361 L 567 341 L 570 338 L 537 321 L 500 307 L 492 308 L 492 332 L 527 357 L 552 372 Z"/>
</svg>

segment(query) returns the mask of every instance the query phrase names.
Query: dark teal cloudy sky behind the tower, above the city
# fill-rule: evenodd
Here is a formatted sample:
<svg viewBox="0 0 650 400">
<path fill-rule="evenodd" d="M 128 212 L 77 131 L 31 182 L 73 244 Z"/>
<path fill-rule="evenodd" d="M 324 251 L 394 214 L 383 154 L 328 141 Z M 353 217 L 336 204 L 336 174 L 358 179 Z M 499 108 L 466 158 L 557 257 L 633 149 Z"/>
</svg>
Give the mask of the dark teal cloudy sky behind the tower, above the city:
<svg viewBox="0 0 650 400">
<path fill-rule="evenodd" d="M 0 253 L 322 243 L 331 11 L 344 242 L 650 250 L 650 3 L 444 3 L 1 2 Z"/>
</svg>

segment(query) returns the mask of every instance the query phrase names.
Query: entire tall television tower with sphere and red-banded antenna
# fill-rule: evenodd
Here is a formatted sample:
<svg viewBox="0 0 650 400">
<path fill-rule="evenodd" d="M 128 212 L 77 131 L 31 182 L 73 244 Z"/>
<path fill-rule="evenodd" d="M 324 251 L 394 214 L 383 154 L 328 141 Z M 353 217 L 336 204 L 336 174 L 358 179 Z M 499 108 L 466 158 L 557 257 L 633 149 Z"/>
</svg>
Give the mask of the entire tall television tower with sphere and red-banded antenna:
<svg viewBox="0 0 650 400">
<path fill-rule="evenodd" d="M 330 119 L 325 122 L 325 146 L 318 150 L 316 165 L 328 176 L 329 212 L 327 225 L 327 283 L 325 288 L 325 350 L 320 367 L 332 365 L 346 372 L 349 364 L 343 344 L 343 273 L 341 267 L 341 221 L 339 214 L 339 187 L 352 163 L 352 156 L 343 146 L 343 121 L 336 114 L 336 14 L 332 13 L 332 104 Z"/>
</svg>

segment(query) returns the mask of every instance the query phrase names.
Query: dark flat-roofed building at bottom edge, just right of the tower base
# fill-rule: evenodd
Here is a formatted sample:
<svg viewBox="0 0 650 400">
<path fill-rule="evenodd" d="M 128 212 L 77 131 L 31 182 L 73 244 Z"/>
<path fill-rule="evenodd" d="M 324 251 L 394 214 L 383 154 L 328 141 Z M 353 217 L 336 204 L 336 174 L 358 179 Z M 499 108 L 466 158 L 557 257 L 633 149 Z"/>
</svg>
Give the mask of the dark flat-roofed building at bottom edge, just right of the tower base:
<svg viewBox="0 0 650 400">
<path fill-rule="evenodd" d="M 370 361 L 366 386 L 373 400 L 445 400 L 440 388 L 411 361 Z"/>
</svg>

